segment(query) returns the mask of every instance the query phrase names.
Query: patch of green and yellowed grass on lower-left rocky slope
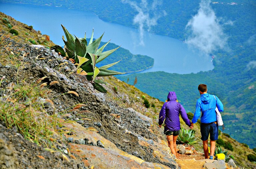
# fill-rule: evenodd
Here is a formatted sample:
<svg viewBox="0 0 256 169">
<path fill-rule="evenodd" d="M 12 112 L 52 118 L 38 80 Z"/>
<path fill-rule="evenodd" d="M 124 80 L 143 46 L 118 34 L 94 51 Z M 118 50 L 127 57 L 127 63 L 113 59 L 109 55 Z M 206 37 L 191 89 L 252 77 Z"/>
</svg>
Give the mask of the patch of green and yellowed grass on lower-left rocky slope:
<svg viewBox="0 0 256 169">
<path fill-rule="evenodd" d="M 0 100 L 0 120 L 7 128 L 16 126 L 23 136 L 40 146 L 52 149 L 63 139 L 62 134 L 69 131 L 62 130 L 63 120 L 53 113 L 49 115 L 47 109 L 55 109 L 53 102 L 48 98 L 47 84 L 41 83 L 43 78 L 28 84 L 10 83 L 3 91 Z M 0 85 L 4 81 L 1 79 Z M 46 106 L 47 103 L 50 106 Z"/>
</svg>

